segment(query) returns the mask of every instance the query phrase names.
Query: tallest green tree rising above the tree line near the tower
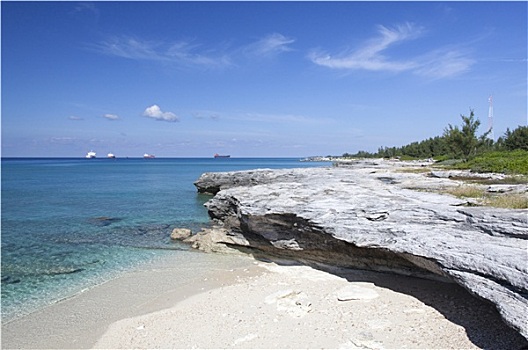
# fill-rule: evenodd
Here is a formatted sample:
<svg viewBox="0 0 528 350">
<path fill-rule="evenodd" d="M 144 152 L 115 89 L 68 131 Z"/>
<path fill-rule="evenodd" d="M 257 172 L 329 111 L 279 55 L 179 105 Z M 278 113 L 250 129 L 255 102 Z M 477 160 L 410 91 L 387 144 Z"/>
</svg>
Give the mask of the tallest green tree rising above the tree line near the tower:
<svg viewBox="0 0 528 350">
<path fill-rule="evenodd" d="M 477 129 L 480 120 L 475 119 L 475 113 L 470 110 L 469 117 L 461 115 L 462 126 L 449 126 L 444 130 L 444 138 L 447 146 L 455 158 L 471 159 L 476 156 L 482 148 L 489 146 L 490 140 L 487 131 L 482 136 L 477 137 Z"/>
</svg>

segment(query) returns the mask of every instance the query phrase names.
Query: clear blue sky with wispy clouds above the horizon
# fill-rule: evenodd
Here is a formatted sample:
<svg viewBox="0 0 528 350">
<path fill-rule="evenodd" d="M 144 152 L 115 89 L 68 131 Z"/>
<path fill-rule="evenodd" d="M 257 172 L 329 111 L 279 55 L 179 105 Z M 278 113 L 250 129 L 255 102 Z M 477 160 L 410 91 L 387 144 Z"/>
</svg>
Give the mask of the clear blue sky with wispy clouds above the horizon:
<svg viewBox="0 0 528 350">
<path fill-rule="evenodd" d="M 527 2 L 2 1 L 2 156 L 303 157 L 527 123 Z"/>
</svg>

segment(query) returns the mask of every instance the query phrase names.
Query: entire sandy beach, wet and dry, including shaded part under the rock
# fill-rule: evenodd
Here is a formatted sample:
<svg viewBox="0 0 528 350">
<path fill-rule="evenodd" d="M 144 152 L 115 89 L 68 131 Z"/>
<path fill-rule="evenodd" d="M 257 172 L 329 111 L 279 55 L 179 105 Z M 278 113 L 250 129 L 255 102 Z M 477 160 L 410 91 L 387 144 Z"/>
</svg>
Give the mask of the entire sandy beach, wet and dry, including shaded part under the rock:
<svg viewBox="0 0 528 350">
<path fill-rule="evenodd" d="M 216 258 L 215 258 L 216 259 Z M 136 272 L 4 326 L 3 348 L 520 349 L 454 284 L 219 258 L 187 283 Z M 141 283 L 138 283 L 138 282 Z M 7 333 L 6 333 L 7 331 Z M 8 337 L 6 341 L 6 336 Z"/>
</svg>

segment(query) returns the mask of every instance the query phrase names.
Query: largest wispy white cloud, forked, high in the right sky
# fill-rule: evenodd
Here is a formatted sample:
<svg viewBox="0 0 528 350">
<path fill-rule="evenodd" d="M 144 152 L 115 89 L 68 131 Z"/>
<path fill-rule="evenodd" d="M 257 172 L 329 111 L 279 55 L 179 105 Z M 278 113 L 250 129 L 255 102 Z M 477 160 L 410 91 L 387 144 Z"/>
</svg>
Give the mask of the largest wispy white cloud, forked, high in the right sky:
<svg viewBox="0 0 528 350">
<path fill-rule="evenodd" d="M 362 47 L 339 53 L 335 56 L 327 52 L 312 51 L 311 61 L 331 69 L 404 72 L 410 71 L 430 78 L 447 78 L 467 71 L 474 60 L 459 50 L 436 49 L 421 56 L 394 59 L 385 53 L 388 49 L 405 41 L 415 40 L 424 35 L 425 30 L 412 23 L 394 28 L 378 26 L 378 36 L 368 40 Z"/>
</svg>

